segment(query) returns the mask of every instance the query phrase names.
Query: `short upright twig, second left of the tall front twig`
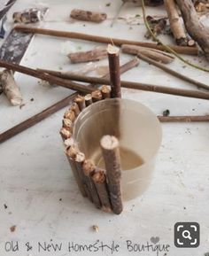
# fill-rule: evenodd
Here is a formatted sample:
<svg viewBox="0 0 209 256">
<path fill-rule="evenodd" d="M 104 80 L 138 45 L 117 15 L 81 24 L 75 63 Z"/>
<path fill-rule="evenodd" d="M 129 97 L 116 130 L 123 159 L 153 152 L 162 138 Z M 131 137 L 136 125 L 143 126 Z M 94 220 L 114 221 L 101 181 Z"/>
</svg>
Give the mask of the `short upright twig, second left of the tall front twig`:
<svg viewBox="0 0 209 256">
<path fill-rule="evenodd" d="M 92 175 L 95 172 L 96 166 L 90 159 L 86 159 L 82 164 L 82 169 L 84 175 L 86 175 L 86 179 L 89 182 L 89 190 L 91 193 L 93 203 L 95 206 L 97 206 L 97 208 L 101 208 L 101 201 L 97 193 L 97 188 L 92 180 Z"/>
</svg>

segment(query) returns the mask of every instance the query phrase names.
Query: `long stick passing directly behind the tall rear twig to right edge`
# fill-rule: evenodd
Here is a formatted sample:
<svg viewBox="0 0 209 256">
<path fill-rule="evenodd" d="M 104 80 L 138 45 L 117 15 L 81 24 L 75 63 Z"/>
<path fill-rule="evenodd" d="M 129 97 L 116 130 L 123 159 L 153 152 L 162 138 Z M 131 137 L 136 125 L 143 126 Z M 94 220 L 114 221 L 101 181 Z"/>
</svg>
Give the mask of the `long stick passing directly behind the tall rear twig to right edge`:
<svg viewBox="0 0 209 256">
<path fill-rule="evenodd" d="M 90 82 L 94 84 L 106 84 L 106 85 L 111 84 L 111 82 L 108 79 L 98 78 L 94 76 L 74 74 L 74 75 L 71 75 L 71 79 L 74 81 L 85 81 L 85 82 Z M 152 85 L 152 84 L 146 84 L 146 83 L 134 82 L 134 81 L 120 81 L 120 85 L 121 87 L 128 88 L 128 89 L 141 89 L 145 91 L 178 95 L 182 97 L 195 97 L 195 98 L 209 99 L 209 93 L 205 91 L 198 91 L 198 90 L 191 90 L 191 89 L 177 89 L 172 87 Z"/>
</svg>

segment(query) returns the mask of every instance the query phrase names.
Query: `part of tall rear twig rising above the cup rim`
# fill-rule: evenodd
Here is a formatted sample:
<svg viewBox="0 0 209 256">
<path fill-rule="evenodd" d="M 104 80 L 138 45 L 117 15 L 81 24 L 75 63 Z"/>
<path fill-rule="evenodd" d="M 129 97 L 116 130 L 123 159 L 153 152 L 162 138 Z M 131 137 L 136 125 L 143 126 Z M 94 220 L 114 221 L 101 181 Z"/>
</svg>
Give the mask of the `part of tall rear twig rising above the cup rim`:
<svg viewBox="0 0 209 256">
<path fill-rule="evenodd" d="M 110 80 L 111 80 L 111 96 L 121 97 L 120 89 L 120 50 L 108 44 L 107 47 L 108 59 L 109 59 L 109 69 L 110 69 Z"/>
</svg>

